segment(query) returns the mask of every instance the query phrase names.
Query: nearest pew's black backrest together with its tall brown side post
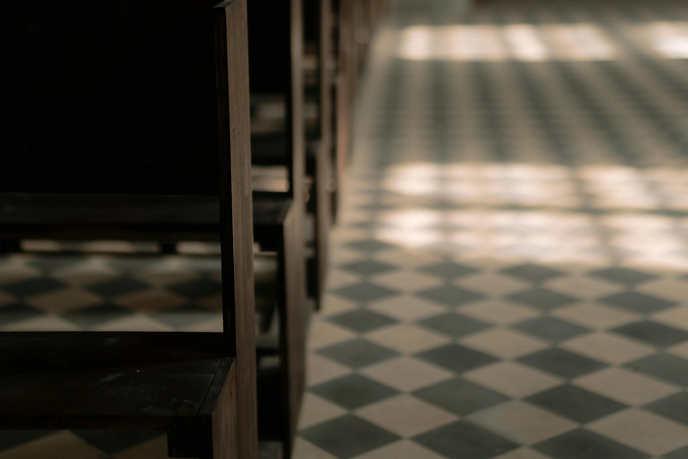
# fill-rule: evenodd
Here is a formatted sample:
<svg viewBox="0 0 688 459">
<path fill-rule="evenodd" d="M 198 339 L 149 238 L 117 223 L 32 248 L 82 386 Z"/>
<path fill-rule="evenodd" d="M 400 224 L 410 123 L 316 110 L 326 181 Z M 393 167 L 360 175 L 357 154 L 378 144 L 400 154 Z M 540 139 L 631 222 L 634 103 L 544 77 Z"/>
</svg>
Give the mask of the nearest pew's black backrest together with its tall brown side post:
<svg viewBox="0 0 688 459">
<path fill-rule="evenodd" d="M 216 2 L 8 3 L 0 192 L 219 195 L 224 351 L 237 357 L 239 456 L 253 458 L 246 0 Z"/>
</svg>

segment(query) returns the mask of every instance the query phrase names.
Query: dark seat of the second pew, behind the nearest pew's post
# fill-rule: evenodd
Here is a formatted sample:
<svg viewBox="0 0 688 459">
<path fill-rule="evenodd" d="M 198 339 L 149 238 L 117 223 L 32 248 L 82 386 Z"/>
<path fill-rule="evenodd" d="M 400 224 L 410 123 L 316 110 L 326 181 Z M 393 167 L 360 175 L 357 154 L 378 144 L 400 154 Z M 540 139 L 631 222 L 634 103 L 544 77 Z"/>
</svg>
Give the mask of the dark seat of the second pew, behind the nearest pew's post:
<svg viewBox="0 0 688 459">
<path fill-rule="evenodd" d="M 253 193 L 254 235 L 261 246 L 274 246 L 260 235 L 283 224 L 291 203 L 285 193 Z M 220 239 L 217 196 L 0 193 L 0 222 L 0 240 L 45 235 L 68 240 Z"/>
</svg>

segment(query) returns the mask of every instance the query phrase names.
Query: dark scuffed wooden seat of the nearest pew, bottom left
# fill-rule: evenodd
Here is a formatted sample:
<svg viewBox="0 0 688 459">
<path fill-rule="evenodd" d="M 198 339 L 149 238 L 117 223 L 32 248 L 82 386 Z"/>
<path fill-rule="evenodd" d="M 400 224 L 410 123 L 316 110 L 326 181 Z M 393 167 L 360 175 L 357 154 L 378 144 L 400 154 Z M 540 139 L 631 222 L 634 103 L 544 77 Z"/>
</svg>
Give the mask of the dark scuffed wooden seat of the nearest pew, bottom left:
<svg viewBox="0 0 688 459">
<path fill-rule="evenodd" d="M 0 428 L 172 429 L 215 405 L 222 334 L 0 333 Z"/>
</svg>

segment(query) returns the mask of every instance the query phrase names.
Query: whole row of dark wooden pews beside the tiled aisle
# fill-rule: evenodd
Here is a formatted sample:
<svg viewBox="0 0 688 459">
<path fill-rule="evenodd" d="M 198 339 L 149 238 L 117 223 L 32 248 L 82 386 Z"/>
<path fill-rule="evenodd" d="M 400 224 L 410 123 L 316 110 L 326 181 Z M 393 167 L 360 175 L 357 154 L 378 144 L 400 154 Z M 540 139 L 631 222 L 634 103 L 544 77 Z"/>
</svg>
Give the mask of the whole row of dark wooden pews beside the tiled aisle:
<svg viewBox="0 0 688 459">
<path fill-rule="evenodd" d="M 224 332 L 2 332 L 0 429 L 162 429 L 184 458 L 257 458 L 260 438 L 290 457 L 356 81 L 385 6 L 214 1 L 6 8 L 0 250 L 219 241 Z M 259 310 L 256 248 L 277 254 Z M 261 336 L 273 316 L 277 336 Z"/>
</svg>

